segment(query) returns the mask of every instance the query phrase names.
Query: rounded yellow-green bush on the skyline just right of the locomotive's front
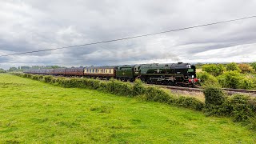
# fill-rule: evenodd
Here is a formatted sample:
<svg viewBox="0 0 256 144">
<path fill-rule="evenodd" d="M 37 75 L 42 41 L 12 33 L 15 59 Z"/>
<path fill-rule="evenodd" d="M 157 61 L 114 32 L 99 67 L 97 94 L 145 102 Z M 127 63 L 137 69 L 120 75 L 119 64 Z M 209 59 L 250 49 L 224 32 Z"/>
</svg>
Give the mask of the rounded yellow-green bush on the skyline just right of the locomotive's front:
<svg viewBox="0 0 256 144">
<path fill-rule="evenodd" d="M 222 64 L 207 64 L 202 66 L 202 71 L 206 71 L 209 74 L 218 76 L 223 74 L 225 67 Z"/>
</svg>

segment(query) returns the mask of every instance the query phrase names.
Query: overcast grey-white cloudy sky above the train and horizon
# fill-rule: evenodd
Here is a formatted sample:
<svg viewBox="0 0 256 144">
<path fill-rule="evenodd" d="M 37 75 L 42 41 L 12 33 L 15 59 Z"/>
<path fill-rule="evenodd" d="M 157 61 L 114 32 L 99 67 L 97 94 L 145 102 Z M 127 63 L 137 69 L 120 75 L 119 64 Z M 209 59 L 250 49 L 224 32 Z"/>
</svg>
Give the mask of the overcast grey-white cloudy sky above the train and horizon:
<svg viewBox="0 0 256 144">
<path fill-rule="evenodd" d="M 0 55 L 82 45 L 256 15 L 256 0 L 1 0 Z M 256 18 L 0 57 L 10 66 L 256 62 Z"/>
</svg>

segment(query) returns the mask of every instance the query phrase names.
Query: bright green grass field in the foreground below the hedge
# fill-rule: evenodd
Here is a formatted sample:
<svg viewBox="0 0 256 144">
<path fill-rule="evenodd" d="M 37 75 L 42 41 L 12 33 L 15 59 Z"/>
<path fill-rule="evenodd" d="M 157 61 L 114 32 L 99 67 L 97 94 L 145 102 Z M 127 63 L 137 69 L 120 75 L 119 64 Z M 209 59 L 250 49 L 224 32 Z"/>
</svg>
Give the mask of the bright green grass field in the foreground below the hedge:
<svg viewBox="0 0 256 144">
<path fill-rule="evenodd" d="M 229 118 L 0 74 L 0 143 L 255 143 Z"/>
</svg>

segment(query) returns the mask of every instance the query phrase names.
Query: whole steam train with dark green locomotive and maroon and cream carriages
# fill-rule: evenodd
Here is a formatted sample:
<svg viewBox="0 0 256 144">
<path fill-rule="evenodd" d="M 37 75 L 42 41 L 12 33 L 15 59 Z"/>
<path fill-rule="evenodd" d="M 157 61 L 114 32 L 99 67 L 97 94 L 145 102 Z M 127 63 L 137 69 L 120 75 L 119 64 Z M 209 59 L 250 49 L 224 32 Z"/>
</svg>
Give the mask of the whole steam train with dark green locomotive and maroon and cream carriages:
<svg viewBox="0 0 256 144">
<path fill-rule="evenodd" d="M 170 86 L 194 86 L 198 82 L 196 68 L 190 63 L 152 63 L 125 66 L 89 66 L 85 68 L 60 68 L 26 70 L 26 74 L 51 74 L 62 76 L 80 76 L 86 78 L 117 78 L 134 82 L 140 78 L 149 84 Z"/>
</svg>

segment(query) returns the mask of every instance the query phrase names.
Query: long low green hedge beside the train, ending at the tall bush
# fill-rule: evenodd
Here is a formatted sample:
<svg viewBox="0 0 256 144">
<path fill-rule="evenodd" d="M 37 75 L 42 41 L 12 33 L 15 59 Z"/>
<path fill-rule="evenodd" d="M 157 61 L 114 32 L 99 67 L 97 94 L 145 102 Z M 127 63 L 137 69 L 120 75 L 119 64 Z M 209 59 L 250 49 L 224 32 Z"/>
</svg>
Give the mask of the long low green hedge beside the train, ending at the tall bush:
<svg viewBox="0 0 256 144">
<path fill-rule="evenodd" d="M 43 76 L 22 73 L 13 74 L 23 78 L 31 78 L 34 80 L 51 83 L 55 86 L 101 90 L 111 94 L 141 98 L 142 100 L 146 101 L 164 102 L 167 104 L 190 108 L 192 110 L 202 110 L 204 107 L 204 103 L 196 98 L 184 96 L 174 97 L 165 90 L 159 89 L 155 86 L 145 86 L 140 80 L 136 80 L 134 83 L 128 83 L 120 82 L 114 79 L 110 79 L 110 81 L 100 81 L 98 79 L 90 78 L 54 78 L 51 75 Z"/>
</svg>

